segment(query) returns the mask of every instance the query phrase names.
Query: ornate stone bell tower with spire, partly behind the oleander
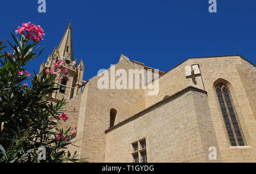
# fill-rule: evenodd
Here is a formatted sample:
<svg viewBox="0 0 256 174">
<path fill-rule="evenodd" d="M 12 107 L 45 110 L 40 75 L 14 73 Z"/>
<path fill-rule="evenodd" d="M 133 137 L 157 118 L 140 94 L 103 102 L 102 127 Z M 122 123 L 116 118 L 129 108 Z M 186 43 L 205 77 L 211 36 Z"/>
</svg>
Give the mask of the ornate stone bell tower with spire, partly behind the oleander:
<svg viewBox="0 0 256 174">
<path fill-rule="evenodd" d="M 48 56 L 47 62 L 43 62 L 40 66 L 39 75 L 43 73 L 43 69 L 46 71 L 48 68 L 54 69 L 54 64 L 59 60 L 64 62 L 61 64 L 59 69 L 61 69 L 61 71 L 67 69 L 68 74 L 63 77 L 62 81 L 57 77 L 56 83 L 63 84 L 68 87 L 56 84 L 56 87 L 59 88 L 59 90 L 57 90 L 57 93 L 53 93 L 49 96 L 52 97 L 53 101 L 61 100 L 63 97 L 65 100 L 70 100 L 72 97 L 81 94 L 81 81 L 84 75 L 84 62 L 81 60 L 77 66 L 77 59 L 75 61 L 73 60 L 71 24 L 68 25 L 59 46 L 53 50 L 51 55 Z"/>
</svg>

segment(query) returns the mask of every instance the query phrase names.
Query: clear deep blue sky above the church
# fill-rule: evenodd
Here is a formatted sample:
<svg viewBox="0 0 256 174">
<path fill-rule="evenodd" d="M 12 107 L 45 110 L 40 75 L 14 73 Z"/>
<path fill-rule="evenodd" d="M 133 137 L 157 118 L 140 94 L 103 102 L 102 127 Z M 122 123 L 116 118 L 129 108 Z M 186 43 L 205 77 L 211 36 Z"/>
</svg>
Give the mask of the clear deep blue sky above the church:
<svg viewBox="0 0 256 174">
<path fill-rule="evenodd" d="M 38 73 L 64 35 L 70 20 L 73 52 L 85 63 L 84 80 L 125 54 L 130 60 L 167 71 L 189 57 L 241 54 L 256 63 L 256 1 L 217 0 L 217 13 L 208 12 L 208 0 L 46 0 L 47 12 L 38 12 L 38 0 L 1 1 L 0 40 L 31 21 L 43 27 L 42 56 L 27 66 Z"/>
</svg>

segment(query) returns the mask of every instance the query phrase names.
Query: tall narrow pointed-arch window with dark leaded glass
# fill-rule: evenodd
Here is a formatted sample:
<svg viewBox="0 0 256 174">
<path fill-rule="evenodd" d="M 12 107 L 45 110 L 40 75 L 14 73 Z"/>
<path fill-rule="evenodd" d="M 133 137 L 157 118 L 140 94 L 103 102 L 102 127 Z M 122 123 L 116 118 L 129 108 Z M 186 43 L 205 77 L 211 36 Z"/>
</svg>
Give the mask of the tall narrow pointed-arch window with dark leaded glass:
<svg viewBox="0 0 256 174">
<path fill-rule="evenodd" d="M 245 137 L 232 103 L 229 88 L 223 83 L 218 83 L 215 90 L 231 146 L 245 146 Z"/>
</svg>

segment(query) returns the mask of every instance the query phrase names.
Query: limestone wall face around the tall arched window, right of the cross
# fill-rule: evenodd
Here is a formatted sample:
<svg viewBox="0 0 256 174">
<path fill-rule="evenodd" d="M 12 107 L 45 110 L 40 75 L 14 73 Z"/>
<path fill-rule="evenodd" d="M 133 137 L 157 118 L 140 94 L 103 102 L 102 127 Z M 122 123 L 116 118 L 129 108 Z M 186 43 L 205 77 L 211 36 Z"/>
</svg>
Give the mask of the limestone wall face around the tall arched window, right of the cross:
<svg viewBox="0 0 256 174">
<path fill-rule="evenodd" d="M 247 65 L 247 61 L 244 61 L 241 56 L 224 56 L 192 58 L 191 62 L 199 63 L 200 65 L 205 91 L 208 92 L 210 114 L 212 115 L 222 161 L 256 162 L 256 122 L 253 115 L 253 108 L 250 104 L 254 103 L 255 105 L 255 102 L 246 95 L 246 91 L 248 91 L 250 87 L 247 87 L 247 89 L 244 87 L 245 84 L 250 83 L 251 88 L 255 88 L 255 83 L 250 82 L 249 79 L 242 79 L 243 75 L 247 73 L 243 73 L 241 68 L 237 69 L 237 67 L 245 66 L 245 62 Z M 255 78 L 253 74 L 247 77 L 250 77 L 252 80 Z M 229 87 L 247 146 L 230 147 L 224 119 L 214 90 L 216 84 L 220 82 L 225 83 Z M 255 92 L 254 94 L 253 92 L 250 93 L 250 95 L 252 96 L 251 98 L 253 98 L 253 96 L 255 97 Z"/>
</svg>

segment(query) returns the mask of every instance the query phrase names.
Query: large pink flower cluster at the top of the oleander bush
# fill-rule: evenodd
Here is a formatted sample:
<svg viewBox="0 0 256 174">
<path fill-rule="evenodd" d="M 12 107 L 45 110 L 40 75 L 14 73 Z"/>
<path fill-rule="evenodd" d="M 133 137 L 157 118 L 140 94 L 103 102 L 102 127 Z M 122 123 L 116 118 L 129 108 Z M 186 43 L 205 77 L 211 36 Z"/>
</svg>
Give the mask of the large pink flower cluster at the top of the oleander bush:
<svg viewBox="0 0 256 174">
<path fill-rule="evenodd" d="M 22 27 L 18 27 L 15 32 L 20 33 L 20 35 L 25 36 L 27 39 L 31 39 L 35 43 L 43 40 L 43 36 L 45 35 L 42 27 L 31 24 L 31 22 L 23 23 Z"/>
</svg>

